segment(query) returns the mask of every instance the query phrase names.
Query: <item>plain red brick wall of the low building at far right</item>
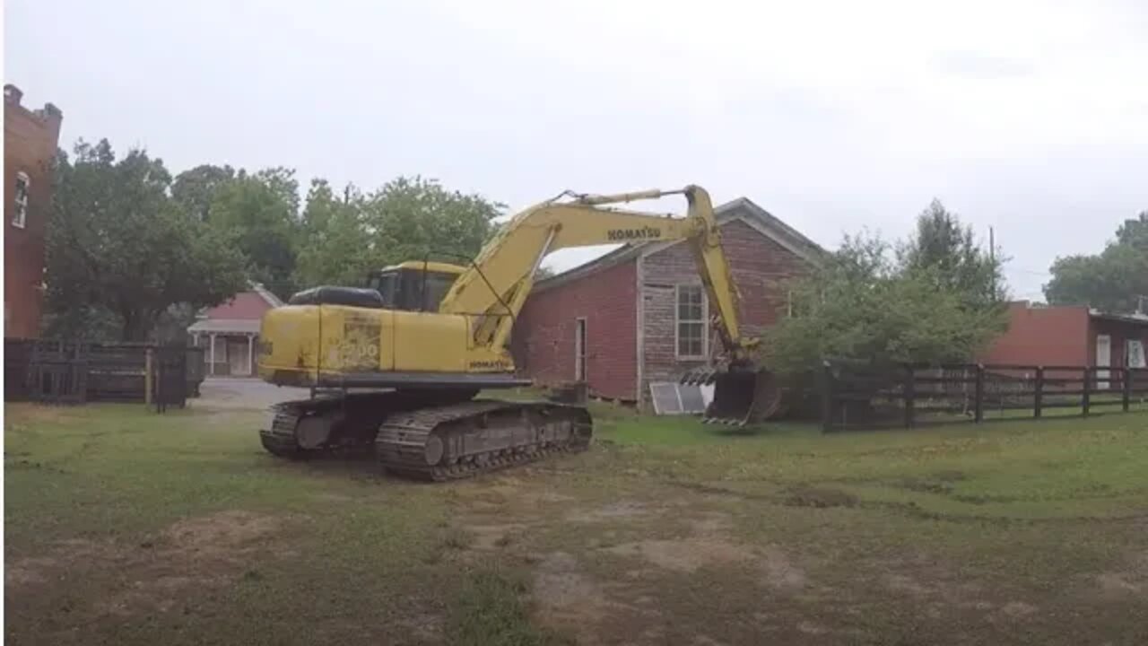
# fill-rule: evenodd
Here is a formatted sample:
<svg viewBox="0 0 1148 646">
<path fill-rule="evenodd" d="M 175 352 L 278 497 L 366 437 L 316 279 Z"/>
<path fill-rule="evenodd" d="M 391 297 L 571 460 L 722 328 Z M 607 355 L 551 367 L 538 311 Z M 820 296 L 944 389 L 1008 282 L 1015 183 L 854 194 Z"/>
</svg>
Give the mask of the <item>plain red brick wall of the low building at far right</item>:
<svg viewBox="0 0 1148 646">
<path fill-rule="evenodd" d="M 1096 353 L 1086 307 L 1009 306 L 1009 329 L 987 352 L 984 363 L 1091 366 Z"/>
</svg>

